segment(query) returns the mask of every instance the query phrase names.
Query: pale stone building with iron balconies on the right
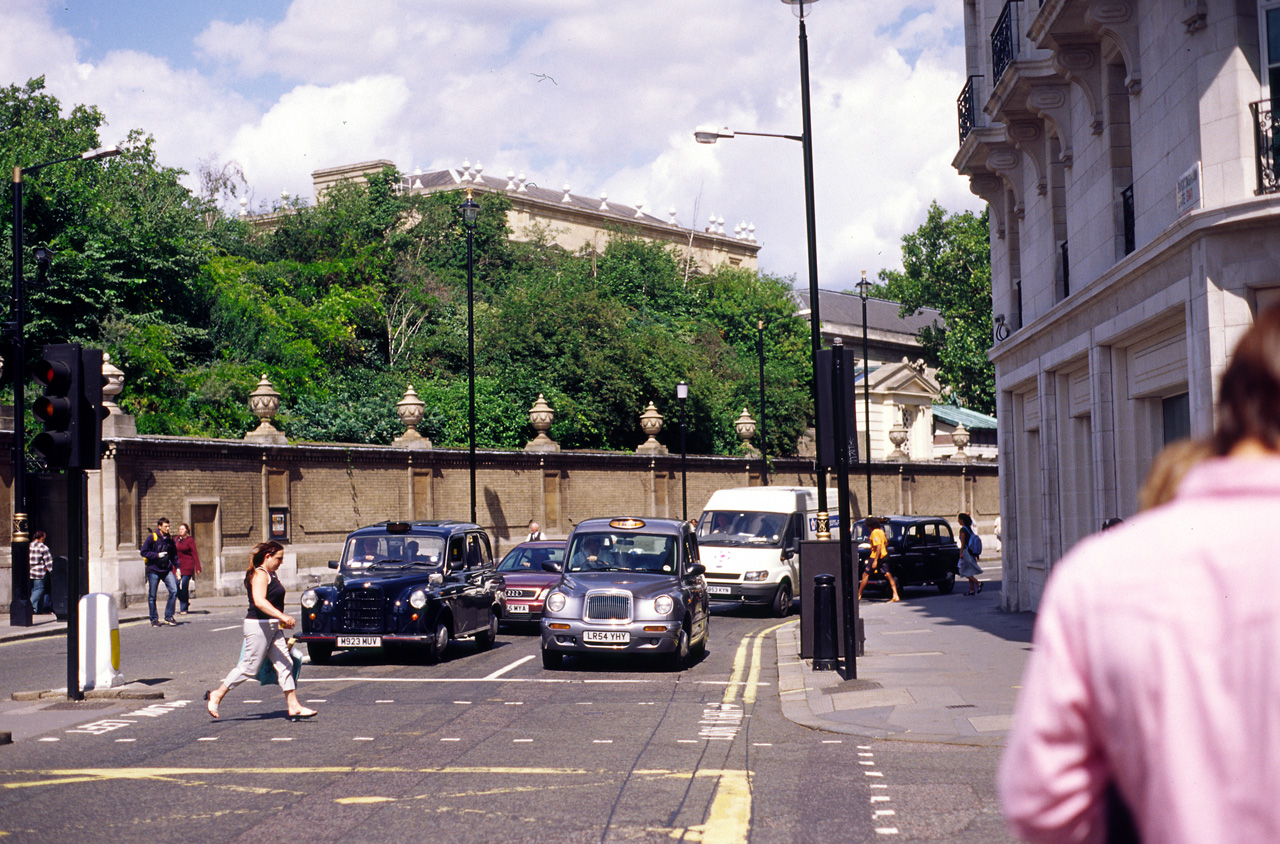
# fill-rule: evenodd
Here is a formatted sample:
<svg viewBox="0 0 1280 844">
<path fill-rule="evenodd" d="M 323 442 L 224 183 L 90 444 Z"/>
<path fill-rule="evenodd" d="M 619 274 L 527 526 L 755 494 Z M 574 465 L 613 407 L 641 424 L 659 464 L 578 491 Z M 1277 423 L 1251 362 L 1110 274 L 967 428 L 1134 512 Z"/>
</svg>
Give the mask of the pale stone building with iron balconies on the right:
<svg viewBox="0 0 1280 844">
<path fill-rule="evenodd" d="M 1213 429 L 1280 297 L 1276 0 L 960 0 L 956 169 L 991 206 L 1004 601 Z"/>
</svg>

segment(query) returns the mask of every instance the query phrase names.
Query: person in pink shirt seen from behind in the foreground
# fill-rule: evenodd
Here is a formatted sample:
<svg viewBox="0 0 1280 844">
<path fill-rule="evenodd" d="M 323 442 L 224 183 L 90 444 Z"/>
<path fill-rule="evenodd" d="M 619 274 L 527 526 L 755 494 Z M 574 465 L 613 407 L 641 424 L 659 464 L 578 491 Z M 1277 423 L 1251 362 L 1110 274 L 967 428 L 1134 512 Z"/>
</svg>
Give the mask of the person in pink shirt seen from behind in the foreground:
<svg viewBox="0 0 1280 844">
<path fill-rule="evenodd" d="M 1000 770 L 1020 838 L 1107 840 L 1116 795 L 1143 841 L 1280 841 L 1280 306 L 1235 348 L 1213 447 L 1053 567 Z"/>
</svg>

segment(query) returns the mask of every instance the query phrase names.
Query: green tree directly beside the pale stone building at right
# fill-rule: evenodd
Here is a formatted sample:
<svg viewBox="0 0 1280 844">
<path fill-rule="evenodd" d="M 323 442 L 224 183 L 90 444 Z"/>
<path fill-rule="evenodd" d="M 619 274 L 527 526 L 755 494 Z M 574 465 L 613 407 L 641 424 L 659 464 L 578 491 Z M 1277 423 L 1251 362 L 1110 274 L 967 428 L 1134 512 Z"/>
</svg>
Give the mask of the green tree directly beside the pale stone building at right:
<svg viewBox="0 0 1280 844">
<path fill-rule="evenodd" d="M 922 307 L 942 312 L 942 324 L 920 329 L 925 359 L 952 402 L 995 414 L 987 211 L 947 214 L 931 204 L 924 224 L 902 237 L 902 272 L 881 270 L 879 278 L 878 295 L 900 302 L 904 316 Z"/>
</svg>

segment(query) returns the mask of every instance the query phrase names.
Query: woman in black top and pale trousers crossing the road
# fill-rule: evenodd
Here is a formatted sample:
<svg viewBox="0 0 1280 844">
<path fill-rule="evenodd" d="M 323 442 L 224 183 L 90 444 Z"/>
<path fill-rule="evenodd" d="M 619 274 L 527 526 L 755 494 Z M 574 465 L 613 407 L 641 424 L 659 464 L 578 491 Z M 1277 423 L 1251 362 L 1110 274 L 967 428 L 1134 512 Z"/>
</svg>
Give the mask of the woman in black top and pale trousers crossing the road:
<svg viewBox="0 0 1280 844">
<path fill-rule="evenodd" d="M 248 593 L 248 615 L 244 617 L 244 652 L 239 665 L 232 669 L 227 679 L 212 692 L 205 693 L 209 701 L 209 715 L 218 717 L 218 704 L 227 693 L 244 680 L 257 676 L 262 660 L 268 658 L 275 667 L 284 701 L 289 706 L 289 720 L 315 717 L 316 711 L 298 703 L 297 681 L 293 679 L 293 657 L 284 639 L 284 630 L 297 624 L 293 616 L 284 612 L 284 584 L 275 575 L 284 562 L 284 546 L 278 542 L 264 542 L 253 548 L 248 569 L 244 570 L 244 592 Z"/>
</svg>

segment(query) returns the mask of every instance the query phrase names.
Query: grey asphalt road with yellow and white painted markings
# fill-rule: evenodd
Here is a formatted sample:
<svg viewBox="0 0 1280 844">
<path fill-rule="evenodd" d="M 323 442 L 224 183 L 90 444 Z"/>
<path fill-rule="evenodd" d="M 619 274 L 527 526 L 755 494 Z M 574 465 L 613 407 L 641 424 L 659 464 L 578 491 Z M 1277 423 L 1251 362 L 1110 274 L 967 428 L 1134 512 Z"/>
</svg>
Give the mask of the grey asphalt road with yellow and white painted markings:
<svg viewBox="0 0 1280 844">
<path fill-rule="evenodd" d="M 782 620 L 718 611 L 685 671 L 571 660 L 538 638 L 305 666 L 284 718 L 244 684 L 205 712 L 237 612 L 122 629 L 124 674 L 159 702 L 14 702 L 65 685 L 65 642 L 0 645 L 5 841 L 1004 841 L 997 751 L 872 743 L 782 717 Z"/>
</svg>

